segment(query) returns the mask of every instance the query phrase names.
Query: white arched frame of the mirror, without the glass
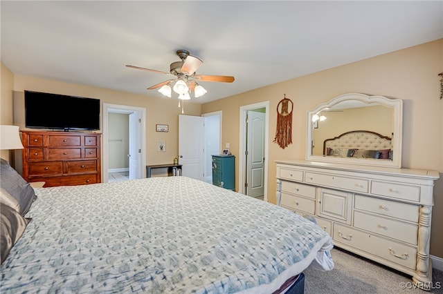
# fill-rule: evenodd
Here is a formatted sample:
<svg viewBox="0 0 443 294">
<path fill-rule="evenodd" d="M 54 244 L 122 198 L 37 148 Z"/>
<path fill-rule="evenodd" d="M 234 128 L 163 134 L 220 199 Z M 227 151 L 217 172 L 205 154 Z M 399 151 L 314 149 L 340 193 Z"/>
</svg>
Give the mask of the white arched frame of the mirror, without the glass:
<svg viewBox="0 0 443 294">
<path fill-rule="evenodd" d="M 357 100 L 365 104 L 377 104 L 394 108 L 394 136 L 392 137 L 392 160 L 383 159 L 361 159 L 352 157 L 325 157 L 323 155 L 312 155 L 312 116 L 325 108 L 332 108 L 336 104 L 347 101 Z M 320 162 L 335 162 L 339 164 L 359 164 L 364 166 L 387 166 L 392 168 L 401 168 L 401 138 L 403 135 L 403 100 L 390 99 L 383 96 L 368 96 L 361 93 L 347 93 L 337 96 L 327 103 L 320 104 L 313 110 L 307 112 L 306 124 L 306 160 Z"/>
</svg>

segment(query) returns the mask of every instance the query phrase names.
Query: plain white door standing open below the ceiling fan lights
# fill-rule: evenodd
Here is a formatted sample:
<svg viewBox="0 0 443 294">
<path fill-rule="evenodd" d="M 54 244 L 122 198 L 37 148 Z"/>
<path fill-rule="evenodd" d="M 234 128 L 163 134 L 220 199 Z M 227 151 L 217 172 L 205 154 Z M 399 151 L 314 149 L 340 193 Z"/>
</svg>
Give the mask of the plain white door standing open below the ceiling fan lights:
<svg viewBox="0 0 443 294">
<path fill-rule="evenodd" d="M 204 181 L 204 117 L 179 115 L 179 164 L 182 175 Z"/>
</svg>

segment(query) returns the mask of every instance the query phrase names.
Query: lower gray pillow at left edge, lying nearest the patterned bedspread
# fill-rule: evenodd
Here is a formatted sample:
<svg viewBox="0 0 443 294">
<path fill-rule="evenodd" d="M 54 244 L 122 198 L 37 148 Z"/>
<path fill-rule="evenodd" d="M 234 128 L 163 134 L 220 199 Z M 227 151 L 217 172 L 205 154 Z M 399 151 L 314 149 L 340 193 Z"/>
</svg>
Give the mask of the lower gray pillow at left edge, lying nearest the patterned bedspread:
<svg viewBox="0 0 443 294">
<path fill-rule="evenodd" d="M 12 246 L 20 239 L 30 219 L 25 219 L 14 208 L 1 204 L 0 209 L 0 264 L 8 257 Z"/>
</svg>

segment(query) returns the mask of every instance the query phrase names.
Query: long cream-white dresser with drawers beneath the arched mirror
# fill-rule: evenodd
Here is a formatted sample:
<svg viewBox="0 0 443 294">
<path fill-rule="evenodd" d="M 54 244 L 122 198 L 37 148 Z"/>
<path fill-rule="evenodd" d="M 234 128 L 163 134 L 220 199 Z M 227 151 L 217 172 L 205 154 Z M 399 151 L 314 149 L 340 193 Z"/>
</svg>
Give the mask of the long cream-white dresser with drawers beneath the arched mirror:
<svg viewBox="0 0 443 294">
<path fill-rule="evenodd" d="M 437 171 L 277 163 L 277 204 L 313 215 L 334 245 L 413 277 L 429 290 L 433 184 Z"/>
</svg>

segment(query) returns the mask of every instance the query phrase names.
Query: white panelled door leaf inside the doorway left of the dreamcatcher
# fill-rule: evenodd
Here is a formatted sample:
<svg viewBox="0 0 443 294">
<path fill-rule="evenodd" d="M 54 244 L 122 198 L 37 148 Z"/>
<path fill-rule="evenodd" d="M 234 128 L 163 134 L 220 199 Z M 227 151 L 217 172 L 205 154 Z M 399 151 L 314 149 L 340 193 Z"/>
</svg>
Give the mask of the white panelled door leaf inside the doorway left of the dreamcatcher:
<svg viewBox="0 0 443 294">
<path fill-rule="evenodd" d="M 248 111 L 246 195 L 264 195 L 264 121 L 263 112 Z"/>
</svg>

